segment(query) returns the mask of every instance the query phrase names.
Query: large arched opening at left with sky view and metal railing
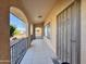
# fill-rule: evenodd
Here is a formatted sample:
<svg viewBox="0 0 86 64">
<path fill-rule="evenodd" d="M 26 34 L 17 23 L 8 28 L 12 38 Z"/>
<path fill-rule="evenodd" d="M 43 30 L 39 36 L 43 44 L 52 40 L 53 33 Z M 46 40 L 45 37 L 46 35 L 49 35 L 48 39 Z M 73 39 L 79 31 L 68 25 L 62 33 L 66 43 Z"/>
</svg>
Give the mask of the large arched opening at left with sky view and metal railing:
<svg viewBox="0 0 86 64">
<path fill-rule="evenodd" d="M 25 14 L 17 8 L 10 8 L 11 64 L 19 64 L 28 48 L 28 23 Z"/>
</svg>

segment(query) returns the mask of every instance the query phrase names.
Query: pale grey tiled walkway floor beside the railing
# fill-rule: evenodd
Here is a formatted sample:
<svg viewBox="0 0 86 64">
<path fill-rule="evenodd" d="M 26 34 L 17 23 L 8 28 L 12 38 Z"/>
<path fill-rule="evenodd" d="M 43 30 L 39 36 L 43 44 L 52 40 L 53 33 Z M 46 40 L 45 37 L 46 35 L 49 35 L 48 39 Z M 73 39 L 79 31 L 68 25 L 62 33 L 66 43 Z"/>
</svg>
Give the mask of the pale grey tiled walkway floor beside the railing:
<svg viewBox="0 0 86 64">
<path fill-rule="evenodd" d="M 51 60 L 53 55 L 54 53 L 42 39 L 36 39 L 32 42 L 21 64 L 53 64 Z"/>
</svg>

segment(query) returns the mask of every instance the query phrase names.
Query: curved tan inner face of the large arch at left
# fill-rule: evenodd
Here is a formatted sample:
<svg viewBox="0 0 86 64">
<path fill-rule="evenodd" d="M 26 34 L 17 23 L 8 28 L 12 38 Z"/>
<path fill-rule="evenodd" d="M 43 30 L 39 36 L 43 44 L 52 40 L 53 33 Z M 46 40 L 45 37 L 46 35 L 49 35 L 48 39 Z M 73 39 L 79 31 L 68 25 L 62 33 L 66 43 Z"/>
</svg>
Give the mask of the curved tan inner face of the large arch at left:
<svg viewBox="0 0 86 64">
<path fill-rule="evenodd" d="M 26 34 L 28 36 L 28 22 L 27 22 L 27 18 L 26 18 L 26 15 L 24 14 L 24 12 L 22 10 L 20 10 L 19 8 L 11 7 L 10 13 L 15 15 L 17 18 L 20 18 L 21 22 L 26 24 L 26 31 L 27 31 Z"/>
</svg>

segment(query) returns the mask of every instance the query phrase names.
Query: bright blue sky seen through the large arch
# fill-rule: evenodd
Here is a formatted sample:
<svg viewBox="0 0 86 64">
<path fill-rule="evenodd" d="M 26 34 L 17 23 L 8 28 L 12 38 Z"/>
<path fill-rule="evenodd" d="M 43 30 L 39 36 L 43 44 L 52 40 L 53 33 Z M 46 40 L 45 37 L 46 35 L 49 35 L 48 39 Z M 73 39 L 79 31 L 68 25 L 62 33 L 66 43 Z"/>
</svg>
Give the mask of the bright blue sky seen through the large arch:
<svg viewBox="0 0 86 64">
<path fill-rule="evenodd" d="M 15 26 L 19 30 L 25 30 L 26 25 L 23 21 L 21 21 L 19 17 L 10 13 L 10 24 Z"/>
</svg>

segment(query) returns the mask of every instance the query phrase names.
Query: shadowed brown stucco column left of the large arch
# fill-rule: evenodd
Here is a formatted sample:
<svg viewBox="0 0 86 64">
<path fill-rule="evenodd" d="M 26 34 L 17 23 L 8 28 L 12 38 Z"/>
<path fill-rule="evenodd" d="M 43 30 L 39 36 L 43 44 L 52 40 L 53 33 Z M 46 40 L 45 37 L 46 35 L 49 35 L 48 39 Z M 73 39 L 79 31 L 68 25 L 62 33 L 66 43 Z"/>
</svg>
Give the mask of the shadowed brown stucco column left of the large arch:
<svg viewBox="0 0 86 64">
<path fill-rule="evenodd" d="M 0 0 L 0 64 L 10 64 L 9 0 Z"/>
</svg>

